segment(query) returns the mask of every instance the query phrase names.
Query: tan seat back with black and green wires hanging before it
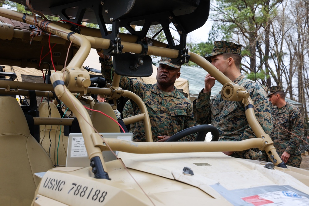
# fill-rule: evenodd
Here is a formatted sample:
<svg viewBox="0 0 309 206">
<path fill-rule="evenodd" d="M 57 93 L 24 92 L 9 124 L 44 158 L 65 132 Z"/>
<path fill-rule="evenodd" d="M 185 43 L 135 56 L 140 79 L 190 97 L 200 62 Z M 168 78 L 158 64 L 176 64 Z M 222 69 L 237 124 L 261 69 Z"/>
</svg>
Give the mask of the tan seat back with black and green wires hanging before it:
<svg viewBox="0 0 309 206">
<path fill-rule="evenodd" d="M 56 105 L 51 102 L 49 103 L 41 102 L 39 104 L 38 111 L 40 117 L 54 117 L 54 118 L 61 117 Z M 46 150 L 47 154 L 49 154 L 50 151 L 50 158 L 52 159 L 54 165 L 57 165 L 57 152 L 58 152 L 58 165 L 66 165 L 68 137 L 63 135 L 63 131 L 64 126 L 61 126 L 60 131 L 60 125 L 40 125 L 40 144 Z M 59 133 L 60 133 L 60 141 L 59 141 Z"/>
</svg>

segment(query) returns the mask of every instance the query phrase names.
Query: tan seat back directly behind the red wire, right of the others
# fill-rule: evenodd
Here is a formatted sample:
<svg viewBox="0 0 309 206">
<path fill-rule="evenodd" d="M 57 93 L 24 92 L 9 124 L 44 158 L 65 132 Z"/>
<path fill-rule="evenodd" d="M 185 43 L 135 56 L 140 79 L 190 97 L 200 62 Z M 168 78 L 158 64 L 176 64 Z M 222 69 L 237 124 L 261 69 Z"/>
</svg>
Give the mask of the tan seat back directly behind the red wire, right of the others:
<svg viewBox="0 0 309 206">
<path fill-rule="evenodd" d="M 92 109 L 102 111 L 104 114 L 112 117 L 114 120 L 117 121 L 112 106 L 107 102 L 95 103 Z M 119 125 L 116 122 L 97 111 L 90 112 L 90 119 L 94 128 L 98 132 L 120 132 Z"/>
</svg>

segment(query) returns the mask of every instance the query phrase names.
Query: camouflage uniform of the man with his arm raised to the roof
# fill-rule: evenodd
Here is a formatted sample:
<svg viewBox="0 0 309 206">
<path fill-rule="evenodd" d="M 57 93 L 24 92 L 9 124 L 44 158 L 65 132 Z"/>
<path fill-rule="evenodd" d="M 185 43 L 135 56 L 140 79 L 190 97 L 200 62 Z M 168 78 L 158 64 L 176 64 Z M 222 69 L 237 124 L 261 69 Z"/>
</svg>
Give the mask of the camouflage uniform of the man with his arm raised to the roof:
<svg viewBox="0 0 309 206">
<path fill-rule="evenodd" d="M 112 60 L 101 63 L 101 72 L 107 82 L 112 82 Z M 176 87 L 167 94 L 162 92 L 157 84 L 146 84 L 137 79 L 121 76 L 119 86 L 138 95 L 146 104 L 152 131 L 153 141 L 158 141 L 158 136 L 172 136 L 183 129 L 197 125 L 193 116 L 192 102 L 182 95 Z M 133 108 L 137 108 L 132 102 Z M 139 114 L 137 109 L 135 114 Z M 181 141 L 193 141 L 195 134 L 191 134 Z M 133 141 L 146 141 L 142 122 L 135 123 Z"/>
</svg>

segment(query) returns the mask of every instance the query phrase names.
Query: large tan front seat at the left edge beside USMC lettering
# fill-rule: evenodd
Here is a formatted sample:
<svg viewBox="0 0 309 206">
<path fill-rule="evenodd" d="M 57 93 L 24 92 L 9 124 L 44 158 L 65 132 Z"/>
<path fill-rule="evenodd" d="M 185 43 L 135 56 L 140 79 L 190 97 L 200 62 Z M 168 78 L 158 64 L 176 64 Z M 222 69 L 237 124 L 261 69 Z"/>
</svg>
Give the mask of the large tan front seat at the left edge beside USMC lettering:
<svg viewBox="0 0 309 206">
<path fill-rule="evenodd" d="M 53 167 L 42 146 L 32 137 L 17 100 L 0 97 L 0 202 L 1 205 L 30 205 L 40 178 L 37 172 Z"/>
</svg>

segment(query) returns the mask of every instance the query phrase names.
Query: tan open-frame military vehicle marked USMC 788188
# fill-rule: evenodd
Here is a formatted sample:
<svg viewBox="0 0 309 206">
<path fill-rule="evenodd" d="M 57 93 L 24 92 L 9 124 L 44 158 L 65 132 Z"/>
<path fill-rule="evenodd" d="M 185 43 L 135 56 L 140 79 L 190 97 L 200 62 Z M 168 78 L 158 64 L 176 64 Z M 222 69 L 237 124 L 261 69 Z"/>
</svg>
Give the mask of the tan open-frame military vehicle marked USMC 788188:
<svg viewBox="0 0 309 206">
<path fill-rule="evenodd" d="M 309 204 L 309 171 L 282 162 L 269 134 L 255 118 L 254 102 L 248 92 L 186 48 L 187 34 L 208 18 L 209 0 L 15 2 L 23 4 L 33 15 L 0 8 L 0 64 L 47 73 L 45 83 L 15 82 L 14 74 L 1 73 L 1 205 Z M 50 21 L 44 15 L 59 16 L 62 20 Z M 82 22 L 97 23 L 99 29 L 82 26 Z M 170 23 L 179 33 L 179 44 L 173 41 Z M 111 31 L 106 24 L 112 25 Z M 148 40 L 152 44 L 147 43 L 147 32 L 154 24 L 162 25 L 168 44 L 151 38 Z M 142 30 L 135 30 L 134 25 Z M 125 27 L 129 34 L 119 33 L 120 27 Z M 113 82 L 104 88 L 90 87 L 90 75 L 82 67 L 91 48 L 113 56 Z M 179 64 L 192 61 L 200 65 L 223 85 L 224 98 L 243 102 L 257 138 L 218 142 L 216 129 L 198 125 L 177 133 L 174 140 L 191 132 L 211 131 L 214 141 L 200 138 L 202 141 L 152 142 L 145 104 L 134 93 L 119 87 L 120 75 L 151 74 L 149 55 L 170 57 Z M 147 141 L 108 138 L 108 134 L 120 132 L 119 126 L 86 110 L 84 105 L 115 119 L 112 107 L 96 103 L 93 94 L 114 102 L 120 96 L 135 101 L 142 113 L 123 122 L 143 121 Z M 15 95 L 28 97 L 30 105 L 20 106 L 12 97 Z M 36 107 L 33 96 L 50 101 Z M 60 116 L 61 102 L 75 118 Z M 68 137 L 60 126 L 70 126 L 69 133 L 73 133 L 74 125 L 81 130 L 90 166 L 61 166 L 70 154 L 66 151 Z M 34 132 L 37 127 L 39 135 Z M 232 158 L 221 152 L 249 148 L 265 150 L 272 163 Z M 119 151 L 117 159 L 105 161 L 102 151 L 109 150 Z"/>
</svg>

